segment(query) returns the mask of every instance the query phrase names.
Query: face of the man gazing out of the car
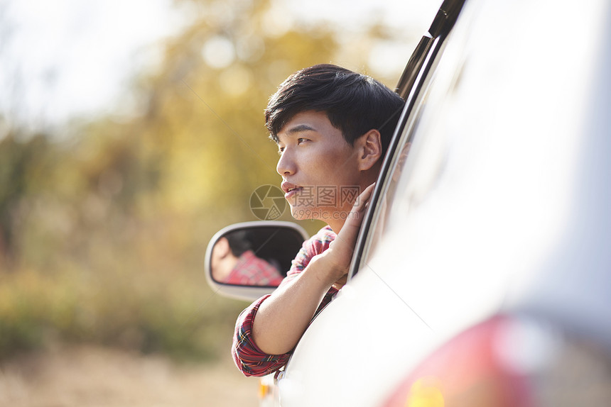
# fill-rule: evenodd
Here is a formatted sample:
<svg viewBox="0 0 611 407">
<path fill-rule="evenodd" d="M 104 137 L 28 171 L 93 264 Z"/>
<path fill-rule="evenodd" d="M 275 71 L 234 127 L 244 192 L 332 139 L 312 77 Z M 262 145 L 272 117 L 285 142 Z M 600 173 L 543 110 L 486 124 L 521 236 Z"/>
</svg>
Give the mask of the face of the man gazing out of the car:
<svg viewBox="0 0 611 407">
<path fill-rule="evenodd" d="M 294 218 L 341 226 L 359 194 L 357 148 L 332 126 L 327 114 L 296 114 L 278 133 L 276 171 Z"/>
</svg>

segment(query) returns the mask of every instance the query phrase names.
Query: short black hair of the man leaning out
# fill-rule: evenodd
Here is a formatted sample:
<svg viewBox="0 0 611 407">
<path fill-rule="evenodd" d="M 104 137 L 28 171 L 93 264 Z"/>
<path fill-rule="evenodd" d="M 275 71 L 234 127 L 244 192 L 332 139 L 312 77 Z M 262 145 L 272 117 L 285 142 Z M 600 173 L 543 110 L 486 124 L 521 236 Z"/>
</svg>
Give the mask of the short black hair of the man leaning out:
<svg viewBox="0 0 611 407">
<path fill-rule="evenodd" d="M 280 84 L 265 109 L 265 124 L 270 138 L 278 143 L 279 131 L 297 113 L 323 111 L 350 145 L 367 131 L 379 130 L 384 153 L 404 103 L 372 77 L 337 65 L 314 65 Z"/>
</svg>

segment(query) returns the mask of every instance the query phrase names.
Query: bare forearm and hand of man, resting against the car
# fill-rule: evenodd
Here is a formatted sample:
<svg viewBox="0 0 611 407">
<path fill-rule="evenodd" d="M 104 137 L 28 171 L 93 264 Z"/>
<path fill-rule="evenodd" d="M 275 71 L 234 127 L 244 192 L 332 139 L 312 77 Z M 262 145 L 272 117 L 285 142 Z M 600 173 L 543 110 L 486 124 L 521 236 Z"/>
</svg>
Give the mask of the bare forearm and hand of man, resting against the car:
<svg viewBox="0 0 611 407">
<path fill-rule="evenodd" d="M 331 286 L 340 288 L 345 283 L 373 186 L 368 186 L 359 196 L 329 248 L 314 256 L 301 274 L 261 303 L 253 321 L 252 335 L 262 351 L 281 355 L 293 350 L 323 296 Z"/>
</svg>

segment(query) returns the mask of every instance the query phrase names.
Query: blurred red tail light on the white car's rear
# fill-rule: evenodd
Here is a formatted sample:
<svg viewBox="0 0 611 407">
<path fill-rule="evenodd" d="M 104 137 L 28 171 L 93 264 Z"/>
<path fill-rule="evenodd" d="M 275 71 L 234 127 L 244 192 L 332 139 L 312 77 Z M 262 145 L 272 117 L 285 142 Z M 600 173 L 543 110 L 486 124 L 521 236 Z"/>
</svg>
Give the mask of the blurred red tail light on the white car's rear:
<svg viewBox="0 0 611 407">
<path fill-rule="evenodd" d="M 384 407 L 534 406 L 526 376 L 507 364 L 499 346 L 514 324 L 496 316 L 453 338 L 425 359 Z"/>
</svg>

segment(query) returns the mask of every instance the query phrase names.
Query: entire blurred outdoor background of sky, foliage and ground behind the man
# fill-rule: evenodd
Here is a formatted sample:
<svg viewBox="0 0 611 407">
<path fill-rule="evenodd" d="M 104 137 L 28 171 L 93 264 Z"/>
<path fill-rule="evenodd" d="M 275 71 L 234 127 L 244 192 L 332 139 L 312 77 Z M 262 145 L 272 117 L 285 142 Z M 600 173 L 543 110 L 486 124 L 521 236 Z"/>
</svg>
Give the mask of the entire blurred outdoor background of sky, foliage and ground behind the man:
<svg viewBox="0 0 611 407">
<path fill-rule="evenodd" d="M 0 405 L 256 406 L 203 257 L 280 182 L 267 99 L 323 62 L 394 89 L 439 4 L 0 0 Z"/>
</svg>

